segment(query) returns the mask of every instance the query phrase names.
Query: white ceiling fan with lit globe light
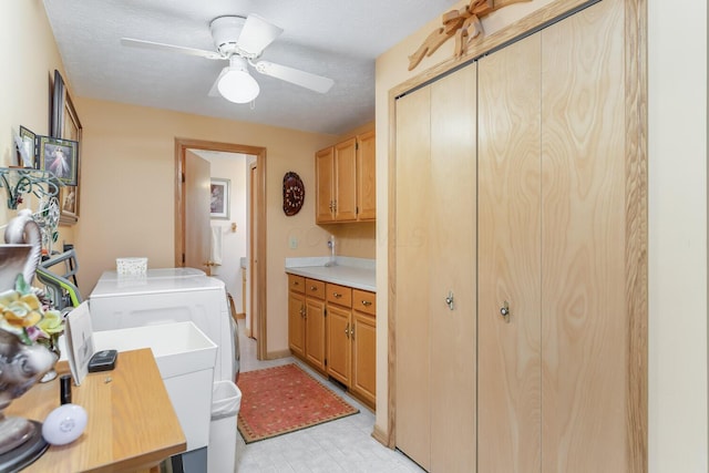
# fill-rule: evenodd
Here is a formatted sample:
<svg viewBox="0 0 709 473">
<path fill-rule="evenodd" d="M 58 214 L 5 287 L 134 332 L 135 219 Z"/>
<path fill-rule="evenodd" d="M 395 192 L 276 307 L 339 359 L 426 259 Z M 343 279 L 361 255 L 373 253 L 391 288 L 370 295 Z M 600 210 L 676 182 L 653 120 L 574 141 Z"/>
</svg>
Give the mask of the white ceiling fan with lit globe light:
<svg viewBox="0 0 709 473">
<path fill-rule="evenodd" d="M 238 16 L 217 17 L 212 20 L 209 28 L 216 51 L 205 51 L 133 38 L 122 38 L 121 44 L 174 51 L 206 59 L 228 60 L 229 65 L 222 70 L 209 91 L 209 95 L 214 96 L 218 92 L 226 100 L 235 103 L 251 102 L 260 91 L 258 82 L 248 72 L 249 64 L 264 75 L 270 75 L 319 93 L 328 92 L 333 84 L 331 79 L 321 75 L 268 61 L 256 61 L 266 47 L 284 31 L 260 17 L 255 14 L 249 14 L 246 18 Z"/>
</svg>

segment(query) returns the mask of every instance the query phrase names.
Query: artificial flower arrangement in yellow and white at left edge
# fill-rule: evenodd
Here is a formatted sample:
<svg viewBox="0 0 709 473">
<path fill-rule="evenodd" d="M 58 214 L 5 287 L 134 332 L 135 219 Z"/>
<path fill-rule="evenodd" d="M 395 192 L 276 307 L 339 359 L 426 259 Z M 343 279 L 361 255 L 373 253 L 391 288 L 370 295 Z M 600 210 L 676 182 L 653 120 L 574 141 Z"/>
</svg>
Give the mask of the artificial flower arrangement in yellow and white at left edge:
<svg viewBox="0 0 709 473">
<path fill-rule="evenodd" d="M 0 292 L 0 330 L 16 335 L 24 345 L 41 343 L 55 350 L 64 331 L 64 318 L 49 304 L 42 304 L 20 274 L 14 289 Z"/>
</svg>

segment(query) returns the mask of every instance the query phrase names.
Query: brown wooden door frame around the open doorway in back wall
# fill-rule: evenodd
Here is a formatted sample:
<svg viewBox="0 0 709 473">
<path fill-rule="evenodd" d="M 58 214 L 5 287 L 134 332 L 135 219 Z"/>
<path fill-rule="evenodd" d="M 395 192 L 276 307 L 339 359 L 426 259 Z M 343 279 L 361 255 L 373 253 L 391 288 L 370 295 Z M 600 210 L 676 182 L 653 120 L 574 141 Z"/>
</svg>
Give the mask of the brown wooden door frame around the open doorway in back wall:
<svg viewBox="0 0 709 473">
<path fill-rule="evenodd" d="M 256 358 L 266 359 L 267 332 L 266 332 L 266 148 L 261 146 L 249 146 L 236 143 L 220 143 L 203 140 L 175 138 L 175 267 L 184 266 L 185 253 L 185 189 L 183 186 L 185 172 L 185 153 L 187 150 L 220 151 L 225 153 L 239 153 L 256 156 L 256 218 L 258 220 L 256 238 L 260 243 L 257 245 L 256 277 L 251 277 L 250 285 L 258 288 L 256 313 L 256 327 L 259 335 L 256 341 Z M 254 276 L 254 275 L 251 275 Z M 249 288 L 250 290 L 250 288 Z"/>
</svg>

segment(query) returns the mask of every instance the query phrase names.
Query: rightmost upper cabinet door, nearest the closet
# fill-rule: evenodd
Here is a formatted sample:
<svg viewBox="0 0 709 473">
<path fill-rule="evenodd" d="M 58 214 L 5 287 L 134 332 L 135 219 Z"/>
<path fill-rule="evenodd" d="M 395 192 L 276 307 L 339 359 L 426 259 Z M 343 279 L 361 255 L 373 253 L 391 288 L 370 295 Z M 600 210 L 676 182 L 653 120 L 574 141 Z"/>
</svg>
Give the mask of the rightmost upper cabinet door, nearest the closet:
<svg viewBox="0 0 709 473">
<path fill-rule="evenodd" d="M 357 138 L 357 219 L 377 219 L 377 152 L 374 132 Z"/>
</svg>

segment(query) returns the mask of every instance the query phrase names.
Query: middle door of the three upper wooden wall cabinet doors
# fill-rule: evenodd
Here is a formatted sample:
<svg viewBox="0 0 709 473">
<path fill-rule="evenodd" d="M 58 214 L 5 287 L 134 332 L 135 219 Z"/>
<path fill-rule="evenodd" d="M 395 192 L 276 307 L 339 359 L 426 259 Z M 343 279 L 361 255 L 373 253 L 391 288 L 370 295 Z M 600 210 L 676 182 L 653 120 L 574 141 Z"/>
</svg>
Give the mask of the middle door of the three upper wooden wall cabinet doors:
<svg viewBox="0 0 709 473">
<path fill-rule="evenodd" d="M 357 140 L 335 145 L 335 220 L 357 219 Z"/>
</svg>

